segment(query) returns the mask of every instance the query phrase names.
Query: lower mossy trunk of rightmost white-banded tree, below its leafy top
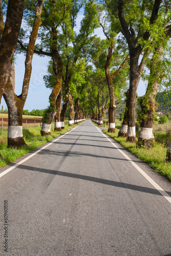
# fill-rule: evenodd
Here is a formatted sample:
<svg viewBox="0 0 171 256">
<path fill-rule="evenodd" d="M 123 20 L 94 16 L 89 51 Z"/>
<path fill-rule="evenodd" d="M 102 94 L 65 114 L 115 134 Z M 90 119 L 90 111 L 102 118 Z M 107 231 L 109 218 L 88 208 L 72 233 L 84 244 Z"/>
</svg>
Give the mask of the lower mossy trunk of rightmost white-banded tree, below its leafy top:
<svg viewBox="0 0 171 256">
<path fill-rule="evenodd" d="M 138 135 L 138 146 L 145 146 L 150 148 L 154 142 L 153 124 L 154 115 L 157 110 L 156 95 L 159 84 L 162 80 L 163 73 L 161 71 L 160 61 L 162 59 L 163 47 L 158 47 L 153 54 L 150 65 L 150 81 L 146 89 L 145 95 L 140 100 L 141 113 L 139 119 L 141 120 L 141 131 Z"/>
</svg>

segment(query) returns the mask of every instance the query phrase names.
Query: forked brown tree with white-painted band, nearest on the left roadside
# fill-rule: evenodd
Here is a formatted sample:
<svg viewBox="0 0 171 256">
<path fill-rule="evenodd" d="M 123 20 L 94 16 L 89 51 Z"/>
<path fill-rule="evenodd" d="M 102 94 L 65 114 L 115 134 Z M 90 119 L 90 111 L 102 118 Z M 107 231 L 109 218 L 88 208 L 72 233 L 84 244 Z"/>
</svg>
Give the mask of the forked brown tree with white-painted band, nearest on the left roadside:
<svg viewBox="0 0 171 256">
<path fill-rule="evenodd" d="M 19 147 L 26 145 L 22 136 L 22 111 L 25 105 L 29 82 L 32 72 L 32 58 L 35 47 L 35 42 L 41 23 L 41 11 L 43 7 L 43 0 L 39 0 L 36 5 L 35 19 L 33 23 L 32 33 L 30 35 L 29 44 L 27 47 L 27 55 L 25 60 L 25 76 L 23 78 L 22 92 L 19 96 L 15 94 L 15 67 L 14 62 L 11 61 L 11 73 L 4 91 L 4 99 L 8 106 L 8 147 Z"/>
</svg>

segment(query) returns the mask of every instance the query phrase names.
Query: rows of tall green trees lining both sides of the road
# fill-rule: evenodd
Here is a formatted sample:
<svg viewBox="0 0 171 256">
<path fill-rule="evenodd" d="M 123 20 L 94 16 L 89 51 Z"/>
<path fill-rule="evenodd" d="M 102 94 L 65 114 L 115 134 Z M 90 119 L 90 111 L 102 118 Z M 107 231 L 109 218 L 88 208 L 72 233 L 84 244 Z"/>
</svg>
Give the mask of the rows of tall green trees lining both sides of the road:
<svg viewBox="0 0 171 256">
<path fill-rule="evenodd" d="M 43 114 L 42 135 L 50 133 L 54 117 L 55 130 L 64 128 L 68 104 L 69 125 L 86 115 L 101 124 L 108 109 L 109 132 L 115 132 L 116 106 L 125 96 L 126 109 L 119 136 L 127 136 L 128 141 L 135 142 L 135 104 L 142 76 L 148 86 L 139 102 L 138 144 L 151 146 L 157 90 L 161 84 L 166 90 L 169 85 L 170 1 L 9 0 L 7 5 L 0 0 L 0 9 L 0 99 L 4 95 L 9 111 L 8 146 L 25 144 L 22 111 L 33 54 L 50 57 L 44 81 L 52 92 L 50 105 Z M 3 11 L 6 10 L 4 25 Z M 80 10 L 84 10 L 84 17 L 76 33 Z M 20 29 L 22 16 L 30 27 L 27 31 Z M 106 39 L 93 35 L 97 27 L 102 28 Z M 32 33 L 28 35 L 31 28 Z M 35 45 L 37 35 L 39 44 Z M 10 36 L 14 37 L 9 46 L 5 42 Z M 5 50 L 2 51 L 2 47 Z M 26 53 L 25 78 L 19 96 L 14 91 L 15 50 Z M 9 59 L 4 60 L 7 53 Z"/>
</svg>

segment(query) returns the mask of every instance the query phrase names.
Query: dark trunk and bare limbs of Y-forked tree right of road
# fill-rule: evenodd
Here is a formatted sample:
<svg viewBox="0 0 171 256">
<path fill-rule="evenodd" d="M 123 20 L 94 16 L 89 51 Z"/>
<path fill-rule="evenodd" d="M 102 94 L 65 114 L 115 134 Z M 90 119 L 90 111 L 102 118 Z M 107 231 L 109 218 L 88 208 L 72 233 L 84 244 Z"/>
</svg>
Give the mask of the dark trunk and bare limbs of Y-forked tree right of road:
<svg viewBox="0 0 171 256">
<path fill-rule="evenodd" d="M 153 10 L 151 13 L 150 24 L 154 24 L 156 19 L 158 18 L 158 11 L 160 8 L 162 0 L 155 0 L 153 5 Z M 138 67 L 139 56 L 142 52 L 142 46 L 137 45 L 137 37 L 135 36 L 135 31 L 133 28 L 129 28 L 124 13 L 124 0 L 118 1 L 118 17 L 120 21 L 120 25 L 123 29 L 123 34 L 127 39 L 127 43 L 129 46 L 130 52 L 130 88 L 128 95 L 128 132 L 127 132 L 127 141 L 136 142 L 136 134 L 135 134 L 135 103 L 136 103 L 136 91 L 138 87 L 138 82 L 140 78 L 140 71 Z M 131 31 L 131 32 L 130 32 Z M 139 32 L 138 32 L 139 33 Z M 148 40 L 150 37 L 150 32 L 146 30 L 142 35 L 144 40 Z"/>
</svg>

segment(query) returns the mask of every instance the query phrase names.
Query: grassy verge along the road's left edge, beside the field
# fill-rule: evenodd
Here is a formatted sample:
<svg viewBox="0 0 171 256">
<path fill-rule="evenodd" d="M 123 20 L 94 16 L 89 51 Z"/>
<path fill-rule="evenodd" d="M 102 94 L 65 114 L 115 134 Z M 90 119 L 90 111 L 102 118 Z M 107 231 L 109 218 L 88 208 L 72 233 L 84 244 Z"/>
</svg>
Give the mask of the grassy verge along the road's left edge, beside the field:
<svg viewBox="0 0 171 256">
<path fill-rule="evenodd" d="M 3 133 L 0 131 L 0 167 L 15 161 L 17 158 L 24 156 L 26 153 L 34 150 L 53 138 L 70 131 L 71 128 L 74 128 L 77 125 L 78 124 L 68 126 L 68 122 L 65 122 L 65 129 L 63 129 L 62 132 L 54 132 L 54 124 L 52 124 L 51 135 L 47 136 L 41 136 L 41 127 L 28 126 L 28 129 L 23 128 L 23 138 L 25 139 L 27 146 L 20 148 L 7 148 L 8 127 L 4 127 Z"/>
</svg>

